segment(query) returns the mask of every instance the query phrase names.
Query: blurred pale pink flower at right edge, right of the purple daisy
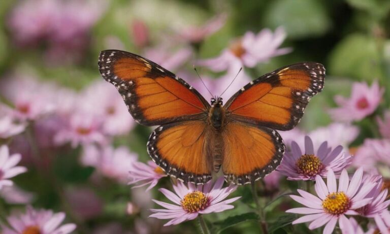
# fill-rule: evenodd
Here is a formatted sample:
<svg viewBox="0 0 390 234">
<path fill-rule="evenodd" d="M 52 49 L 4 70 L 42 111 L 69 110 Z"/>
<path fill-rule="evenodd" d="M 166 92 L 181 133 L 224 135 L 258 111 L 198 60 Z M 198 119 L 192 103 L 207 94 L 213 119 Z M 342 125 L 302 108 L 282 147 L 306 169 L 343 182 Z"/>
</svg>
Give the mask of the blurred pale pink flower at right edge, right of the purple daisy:
<svg viewBox="0 0 390 234">
<path fill-rule="evenodd" d="M 389 139 L 365 139 L 363 145 L 359 147 L 353 156 L 354 166 L 363 166 L 365 171 L 377 173 L 381 164 L 390 165 L 390 140 Z"/>
</svg>

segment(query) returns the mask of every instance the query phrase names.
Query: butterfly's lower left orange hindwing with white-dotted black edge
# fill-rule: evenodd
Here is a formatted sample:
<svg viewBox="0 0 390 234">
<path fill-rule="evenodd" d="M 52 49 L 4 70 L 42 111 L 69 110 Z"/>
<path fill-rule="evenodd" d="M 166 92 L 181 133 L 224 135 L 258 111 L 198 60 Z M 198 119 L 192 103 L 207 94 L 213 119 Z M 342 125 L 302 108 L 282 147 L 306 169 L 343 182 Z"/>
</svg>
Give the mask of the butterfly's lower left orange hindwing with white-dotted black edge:
<svg viewBox="0 0 390 234">
<path fill-rule="evenodd" d="M 204 184 L 211 179 L 205 121 L 185 121 L 157 127 L 147 147 L 153 161 L 168 175 L 184 182 Z"/>
</svg>

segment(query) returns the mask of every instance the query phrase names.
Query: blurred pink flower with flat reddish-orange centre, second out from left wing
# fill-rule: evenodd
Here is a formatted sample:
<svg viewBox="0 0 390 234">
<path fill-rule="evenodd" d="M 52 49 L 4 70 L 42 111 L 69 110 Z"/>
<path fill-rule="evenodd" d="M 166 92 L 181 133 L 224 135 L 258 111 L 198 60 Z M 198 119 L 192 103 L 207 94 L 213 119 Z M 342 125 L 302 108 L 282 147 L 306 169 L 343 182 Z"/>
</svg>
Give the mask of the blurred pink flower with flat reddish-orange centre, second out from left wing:
<svg viewBox="0 0 390 234">
<path fill-rule="evenodd" d="M 90 113 L 74 113 L 69 117 L 66 126 L 54 136 L 57 145 L 71 143 L 73 148 L 91 143 L 106 144 L 107 139 L 102 132 L 102 120 Z"/>
</svg>

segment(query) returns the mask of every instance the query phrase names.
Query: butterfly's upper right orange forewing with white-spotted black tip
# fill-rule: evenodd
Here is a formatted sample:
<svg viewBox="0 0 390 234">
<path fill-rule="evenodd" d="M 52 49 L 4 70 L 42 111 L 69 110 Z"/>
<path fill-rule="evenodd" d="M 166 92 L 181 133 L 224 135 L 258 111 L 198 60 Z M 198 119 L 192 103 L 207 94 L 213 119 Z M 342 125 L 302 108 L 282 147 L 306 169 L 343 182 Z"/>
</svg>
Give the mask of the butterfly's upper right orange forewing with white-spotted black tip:
<svg viewBox="0 0 390 234">
<path fill-rule="evenodd" d="M 319 63 L 285 66 L 245 85 L 225 108 L 232 119 L 290 130 L 301 120 L 310 98 L 323 89 L 324 78 Z"/>
</svg>

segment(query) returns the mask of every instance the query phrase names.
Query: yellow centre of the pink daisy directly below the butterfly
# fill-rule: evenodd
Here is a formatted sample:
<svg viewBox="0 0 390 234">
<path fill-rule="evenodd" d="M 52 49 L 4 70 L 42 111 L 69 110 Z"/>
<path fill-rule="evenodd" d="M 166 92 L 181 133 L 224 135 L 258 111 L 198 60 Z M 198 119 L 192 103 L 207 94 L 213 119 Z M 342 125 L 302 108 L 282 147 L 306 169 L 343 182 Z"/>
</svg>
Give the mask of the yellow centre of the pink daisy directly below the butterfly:
<svg viewBox="0 0 390 234">
<path fill-rule="evenodd" d="M 209 199 L 203 192 L 193 191 L 186 194 L 180 203 L 183 210 L 194 213 L 204 210 L 208 206 Z"/>
</svg>

